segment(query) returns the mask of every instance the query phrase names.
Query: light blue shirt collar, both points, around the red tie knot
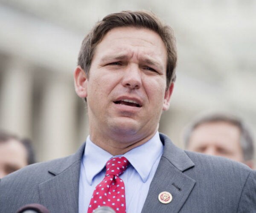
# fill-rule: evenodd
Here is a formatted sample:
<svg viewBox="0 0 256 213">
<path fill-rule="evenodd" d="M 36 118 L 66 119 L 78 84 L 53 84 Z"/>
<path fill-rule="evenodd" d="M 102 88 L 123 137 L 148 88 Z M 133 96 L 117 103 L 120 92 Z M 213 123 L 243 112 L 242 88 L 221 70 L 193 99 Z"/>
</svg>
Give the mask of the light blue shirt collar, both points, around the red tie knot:
<svg viewBox="0 0 256 213">
<path fill-rule="evenodd" d="M 159 132 L 156 132 L 149 141 L 128 151 L 123 156 L 128 159 L 145 183 L 151 168 L 162 154 L 163 144 L 160 141 Z M 93 144 L 90 140 L 90 135 L 87 137 L 82 163 L 90 185 L 94 176 L 104 169 L 106 162 L 112 157 L 113 155 Z"/>
</svg>

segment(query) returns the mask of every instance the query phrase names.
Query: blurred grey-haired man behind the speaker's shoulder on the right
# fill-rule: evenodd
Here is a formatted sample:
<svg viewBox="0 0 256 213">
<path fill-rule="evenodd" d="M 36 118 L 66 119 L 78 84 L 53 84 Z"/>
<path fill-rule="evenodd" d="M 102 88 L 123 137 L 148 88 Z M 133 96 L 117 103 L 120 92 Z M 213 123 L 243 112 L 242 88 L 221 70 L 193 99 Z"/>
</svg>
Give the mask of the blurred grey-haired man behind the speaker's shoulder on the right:
<svg viewBox="0 0 256 213">
<path fill-rule="evenodd" d="M 212 113 L 195 119 L 184 131 L 184 141 L 187 150 L 230 158 L 253 169 L 252 135 L 233 115 Z"/>
</svg>

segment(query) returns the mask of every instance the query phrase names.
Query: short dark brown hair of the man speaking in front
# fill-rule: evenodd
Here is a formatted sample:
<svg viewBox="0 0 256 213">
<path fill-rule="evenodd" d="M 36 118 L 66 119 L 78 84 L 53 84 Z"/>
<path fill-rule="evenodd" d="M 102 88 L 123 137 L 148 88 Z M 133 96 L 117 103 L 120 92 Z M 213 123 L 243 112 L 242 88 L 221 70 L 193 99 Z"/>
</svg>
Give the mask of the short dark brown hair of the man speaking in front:
<svg viewBox="0 0 256 213">
<path fill-rule="evenodd" d="M 89 78 L 89 70 L 96 46 L 111 29 L 125 26 L 150 29 L 161 37 L 166 46 L 168 57 L 166 67 L 166 86 L 168 88 L 170 83 L 175 81 L 176 78 L 177 51 L 175 37 L 171 27 L 164 25 L 156 15 L 147 11 L 113 13 L 96 23 L 84 38 L 78 57 L 78 65 L 84 69 L 87 78 Z"/>
</svg>

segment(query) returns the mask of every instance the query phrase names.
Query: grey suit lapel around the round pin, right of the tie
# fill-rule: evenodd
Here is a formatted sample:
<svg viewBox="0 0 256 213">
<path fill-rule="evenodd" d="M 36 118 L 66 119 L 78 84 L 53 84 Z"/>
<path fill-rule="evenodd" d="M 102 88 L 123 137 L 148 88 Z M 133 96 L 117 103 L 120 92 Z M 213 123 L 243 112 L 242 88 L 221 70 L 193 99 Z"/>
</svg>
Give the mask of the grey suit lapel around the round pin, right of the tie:
<svg viewBox="0 0 256 213">
<path fill-rule="evenodd" d="M 183 171 L 193 167 L 194 163 L 165 135 L 160 134 L 160 138 L 164 143 L 164 152 L 150 184 L 142 213 L 178 213 L 195 185 L 195 180 L 183 174 Z M 162 204 L 158 200 L 158 195 L 163 191 L 172 194 L 169 204 Z"/>
</svg>

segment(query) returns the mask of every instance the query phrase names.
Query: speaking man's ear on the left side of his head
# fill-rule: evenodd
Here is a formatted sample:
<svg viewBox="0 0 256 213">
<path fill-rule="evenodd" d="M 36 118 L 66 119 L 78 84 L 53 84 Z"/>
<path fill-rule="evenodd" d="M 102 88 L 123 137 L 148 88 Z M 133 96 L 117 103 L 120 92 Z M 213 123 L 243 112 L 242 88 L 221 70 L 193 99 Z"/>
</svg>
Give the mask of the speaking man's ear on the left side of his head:
<svg viewBox="0 0 256 213">
<path fill-rule="evenodd" d="M 88 78 L 84 70 L 81 68 L 81 66 L 77 66 L 74 71 L 74 81 L 75 81 L 76 94 L 80 98 L 86 98 Z"/>
</svg>

